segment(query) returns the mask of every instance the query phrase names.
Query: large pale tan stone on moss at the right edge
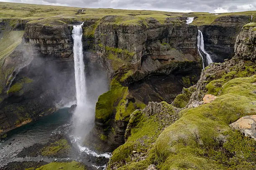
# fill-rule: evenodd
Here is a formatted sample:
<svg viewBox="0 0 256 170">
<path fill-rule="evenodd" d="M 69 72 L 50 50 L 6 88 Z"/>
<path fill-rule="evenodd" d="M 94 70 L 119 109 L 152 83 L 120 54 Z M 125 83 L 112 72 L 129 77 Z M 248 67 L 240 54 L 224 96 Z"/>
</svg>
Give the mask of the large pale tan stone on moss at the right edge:
<svg viewBox="0 0 256 170">
<path fill-rule="evenodd" d="M 256 115 L 241 117 L 229 126 L 232 129 L 239 130 L 245 136 L 256 140 Z"/>
</svg>

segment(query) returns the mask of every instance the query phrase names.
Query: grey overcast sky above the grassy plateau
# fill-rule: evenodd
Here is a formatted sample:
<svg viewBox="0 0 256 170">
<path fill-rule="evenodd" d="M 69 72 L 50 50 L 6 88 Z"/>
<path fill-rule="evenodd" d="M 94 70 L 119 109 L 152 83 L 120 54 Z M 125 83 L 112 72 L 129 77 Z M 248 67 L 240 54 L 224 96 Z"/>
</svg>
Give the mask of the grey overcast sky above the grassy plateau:
<svg viewBox="0 0 256 170">
<path fill-rule="evenodd" d="M 256 10 L 256 0 L 4 0 L 44 5 L 210 13 Z"/>
</svg>

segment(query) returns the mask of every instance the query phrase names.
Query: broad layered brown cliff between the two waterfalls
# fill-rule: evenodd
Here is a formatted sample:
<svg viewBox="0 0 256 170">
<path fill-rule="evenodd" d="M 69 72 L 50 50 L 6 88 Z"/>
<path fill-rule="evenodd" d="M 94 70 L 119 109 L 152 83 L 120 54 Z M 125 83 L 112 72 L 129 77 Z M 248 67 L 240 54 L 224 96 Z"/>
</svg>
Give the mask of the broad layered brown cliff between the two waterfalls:
<svg viewBox="0 0 256 170">
<path fill-rule="evenodd" d="M 168 75 L 182 62 L 200 62 L 196 26 L 168 18 L 164 24 L 148 18 L 146 24 L 118 25 L 117 19 L 106 16 L 95 29 L 96 52 L 110 59 L 107 65 L 112 66 L 108 67 L 112 75 L 122 65 L 136 69 L 138 76 L 126 81 L 131 83 L 148 75 Z"/>
</svg>

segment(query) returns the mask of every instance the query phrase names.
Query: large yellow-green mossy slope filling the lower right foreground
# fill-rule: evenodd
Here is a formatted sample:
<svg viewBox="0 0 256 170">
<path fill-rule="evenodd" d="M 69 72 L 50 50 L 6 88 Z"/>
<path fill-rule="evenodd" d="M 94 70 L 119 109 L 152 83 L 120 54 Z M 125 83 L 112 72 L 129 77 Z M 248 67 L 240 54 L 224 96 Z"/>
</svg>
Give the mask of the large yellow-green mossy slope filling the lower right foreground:
<svg viewBox="0 0 256 170">
<path fill-rule="evenodd" d="M 142 170 L 150 164 L 161 170 L 252 170 L 256 166 L 256 141 L 232 131 L 229 124 L 245 115 L 256 114 L 253 104 L 256 101 L 255 82 L 256 75 L 229 80 L 212 103 L 179 112 L 180 119 L 167 127 L 156 141 L 153 139 L 150 142 L 154 143 L 153 147 L 139 160 L 131 160 L 131 153 L 138 139 L 144 136 L 140 133 L 157 128 L 154 127 L 155 122 L 145 123 L 138 131 L 135 128 L 131 137 L 139 134 L 137 140 L 129 137 L 116 149 L 109 166 L 115 169 L 121 166 L 119 170 Z M 144 130 L 148 124 L 152 129 Z M 118 162 L 121 160 L 123 163 Z"/>
</svg>

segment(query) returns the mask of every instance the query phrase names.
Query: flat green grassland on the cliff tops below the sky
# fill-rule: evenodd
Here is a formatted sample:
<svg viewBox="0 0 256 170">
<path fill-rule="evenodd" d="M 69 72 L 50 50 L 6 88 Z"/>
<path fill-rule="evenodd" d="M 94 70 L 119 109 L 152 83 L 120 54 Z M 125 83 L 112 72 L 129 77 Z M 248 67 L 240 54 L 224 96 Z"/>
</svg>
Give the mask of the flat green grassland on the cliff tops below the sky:
<svg viewBox="0 0 256 170">
<path fill-rule="evenodd" d="M 77 11 L 84 9 L 84 12 L 77 15 Z M 239 13 L 222 13 L 215 15 L 212 13 L 172 13 L 152 10 L 120 10 L 112 8 L 81 8 L 64 7 L 51 5 L 34 5 L 24 3 L 0 2 L 0 18 L 21 18 L 34 20 L 37 23 L 46 20 L 86 20 L 87 18 L 103 18 L 107 15 L 122 16 L 117 24 L 137 25 L 138 21 L 145 21 L 147 18 L 154 18 L 163 24 L 168 17 L 198 17 L 192 25 L 208 25 L 216 18 L 225 15 L 256 15 L 256 11 L 246 11 Z M 46 22 L 47 23 L 47 22 Z"/>
</svg>

